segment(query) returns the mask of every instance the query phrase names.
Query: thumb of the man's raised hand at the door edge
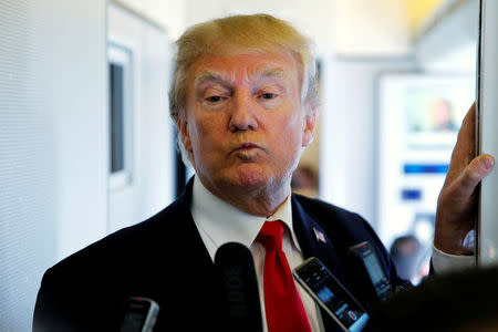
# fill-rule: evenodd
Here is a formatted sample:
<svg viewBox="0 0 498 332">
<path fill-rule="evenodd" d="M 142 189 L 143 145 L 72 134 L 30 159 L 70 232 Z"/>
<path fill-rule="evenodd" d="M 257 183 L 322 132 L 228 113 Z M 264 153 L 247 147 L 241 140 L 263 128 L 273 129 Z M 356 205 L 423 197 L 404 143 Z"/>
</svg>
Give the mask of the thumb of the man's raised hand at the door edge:
<svg viewBox="0 0 498 332">
<path fill-rule="evenodd" d="M 454 199 L 465 201 L 476 189 L 477 185 L 492 170 L 495 158 L 490 155 L 480 155 L 474 158 L 464 173 L 452 184 Z"/>
</svg>

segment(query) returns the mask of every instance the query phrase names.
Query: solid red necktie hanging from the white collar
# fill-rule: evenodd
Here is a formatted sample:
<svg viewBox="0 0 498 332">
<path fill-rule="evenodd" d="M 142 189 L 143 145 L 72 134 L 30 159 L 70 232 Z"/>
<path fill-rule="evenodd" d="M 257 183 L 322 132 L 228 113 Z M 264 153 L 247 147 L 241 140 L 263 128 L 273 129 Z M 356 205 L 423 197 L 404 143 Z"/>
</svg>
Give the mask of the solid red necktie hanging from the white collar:
<svg viewBox="0 0 498 332">
<path fill-rule="evenodd" d="M 257 240 L 267 249 L 263 270 L 264 307 L 269 332 L 311 332 L 307 312 L 282 251 L 282 221 L 267 221 Z"/>
</svg>

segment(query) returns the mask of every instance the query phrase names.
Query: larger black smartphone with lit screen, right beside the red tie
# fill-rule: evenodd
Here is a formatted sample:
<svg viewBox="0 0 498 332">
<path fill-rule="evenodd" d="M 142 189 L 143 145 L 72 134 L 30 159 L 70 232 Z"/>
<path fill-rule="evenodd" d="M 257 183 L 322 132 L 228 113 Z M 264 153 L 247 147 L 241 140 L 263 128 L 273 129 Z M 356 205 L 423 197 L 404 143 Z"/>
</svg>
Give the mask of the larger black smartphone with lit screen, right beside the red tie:
<svg viewBox="0 0 498 332">
<path fill-rule="evenodd" d="M 307 259 L 292 273 L 343 331 L 362 331 L 369 321 L 365 310 L 318 258 Z"/>
</svg>

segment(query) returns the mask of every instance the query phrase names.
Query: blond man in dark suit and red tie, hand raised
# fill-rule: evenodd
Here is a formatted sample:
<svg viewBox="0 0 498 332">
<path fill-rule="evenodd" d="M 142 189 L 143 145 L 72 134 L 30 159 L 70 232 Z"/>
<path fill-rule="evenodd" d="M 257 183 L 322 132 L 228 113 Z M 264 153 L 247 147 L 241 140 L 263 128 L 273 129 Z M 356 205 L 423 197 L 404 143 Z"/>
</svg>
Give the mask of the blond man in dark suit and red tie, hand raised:
<svg viewBox="0 0 498 332">
<path fill-rule="evenodd" d="M 267 278 L 267 269 L 273 268 L 267 264 L 272 250 L 283 252 L 283 258 L 277 253 L 277 274 L 318 257 L 370 308 L 375 299 L 364 291 L 369 279 L 346 257 L 350 246 L 370 241 L 391 283 L 406 284 L 360 216 L 291 195 L 291 174 L 313 138 L 317 120 L 309 41 L 270 15 L 239 15 L 195 25 L 177 45 L 170 113 L 184 159 L 196 176 L 156 216 L 49 269 L 33 329 L 111 331 L 118 326 L 121 303 L 138 295 L 159 303 L 156 331 L 216 331 L 222 317 L 212 259 L 229 241 L 251 250 L 264 331 L 282 331 L 282 318 L 295 320 L 290 324 L 294 331 L 338 329 L 294 283 L 286 284 L 279 302 L 283 305 L 274 305 L 279 299 L 269 294 L 281 284 Z M 471 227 L 461 226 L 471 215 L 471 191 L 489 173 L 479 168 L 486 157 L 467 165 L 469 137 L 457 146 L 463 152 L 452 162 L 454 177 L 448 177 L 439 201 L 436 242 L 449 253 L 463 251 L 460 239 Z M 454 197 L 461 203 L 457 215 Z M 267 229 L 277 229 L 272 237 L 279 234 L 278 249 L 266 242 Z"/>
</svg>

